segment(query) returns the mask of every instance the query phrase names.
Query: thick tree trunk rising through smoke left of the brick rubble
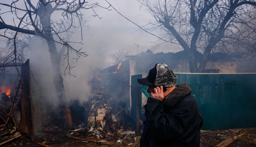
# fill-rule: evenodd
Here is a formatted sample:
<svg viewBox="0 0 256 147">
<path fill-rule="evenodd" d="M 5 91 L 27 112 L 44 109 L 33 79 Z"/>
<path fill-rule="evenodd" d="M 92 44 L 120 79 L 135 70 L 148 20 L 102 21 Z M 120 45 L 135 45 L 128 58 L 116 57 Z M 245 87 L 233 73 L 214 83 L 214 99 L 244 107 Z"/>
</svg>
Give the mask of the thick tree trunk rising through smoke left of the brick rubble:
<svg viewBox="0 0 256 147">
<path fill-rule="evenodd" d="M 63 127 L 70 129 L 73 127 L 72 116 L 70 113 L 69 104 L 67 103 L 67 97 L 64 89 L 63 78 L 61 76 L 61 55 L 57 52 L 56 44 L 54 42 L 52 29 L 51 29 L 51 12 L 52 5 L 48 3 L 47 5 L 40 4 L 40 7 L 37 10 L 37 14 L 40 17 L 42 28 L 45 35 L 47 36 L 46 41 L 49 47 L 51 63 L 52 63 L 52 74 L 53 74 L 53 83 L 55 86 L 55 91 L 59 99 L 59 106 L 61 112 L 61 120 L 63 122 Z"/>
</svg>

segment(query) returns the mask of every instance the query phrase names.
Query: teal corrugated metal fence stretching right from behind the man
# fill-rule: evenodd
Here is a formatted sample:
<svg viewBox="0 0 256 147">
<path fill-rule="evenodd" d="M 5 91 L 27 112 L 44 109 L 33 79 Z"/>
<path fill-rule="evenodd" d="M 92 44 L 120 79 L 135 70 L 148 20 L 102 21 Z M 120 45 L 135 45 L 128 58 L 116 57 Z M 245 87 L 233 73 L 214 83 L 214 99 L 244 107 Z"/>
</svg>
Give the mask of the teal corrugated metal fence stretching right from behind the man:
<svg viewBox="0 0 256 147">
<path fill-rule="evenodd" d="M 205 130 L 256 127 L 256 74 L 177 74 L 197 100 Z"/>
</svg>

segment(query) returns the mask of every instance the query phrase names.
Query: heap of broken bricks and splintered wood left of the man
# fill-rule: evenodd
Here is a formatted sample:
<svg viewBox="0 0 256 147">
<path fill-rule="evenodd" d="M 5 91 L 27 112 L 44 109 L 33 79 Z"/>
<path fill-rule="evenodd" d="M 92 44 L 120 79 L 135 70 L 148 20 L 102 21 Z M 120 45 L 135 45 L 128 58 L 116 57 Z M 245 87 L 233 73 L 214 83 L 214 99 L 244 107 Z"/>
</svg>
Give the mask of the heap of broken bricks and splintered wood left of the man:
<svg viewBox="0 0 256 147">
<path fill-rule="evenodd" d="M 123 118 L 125 104 L 112 100 L 103 86 L 92 87 L 92 91 L 85 105 L 87 123 L 70 130 L 69 138 L 106 145 L 136 145 L 140 137 L 135 135 L 132 124 Z"/>
</svg>

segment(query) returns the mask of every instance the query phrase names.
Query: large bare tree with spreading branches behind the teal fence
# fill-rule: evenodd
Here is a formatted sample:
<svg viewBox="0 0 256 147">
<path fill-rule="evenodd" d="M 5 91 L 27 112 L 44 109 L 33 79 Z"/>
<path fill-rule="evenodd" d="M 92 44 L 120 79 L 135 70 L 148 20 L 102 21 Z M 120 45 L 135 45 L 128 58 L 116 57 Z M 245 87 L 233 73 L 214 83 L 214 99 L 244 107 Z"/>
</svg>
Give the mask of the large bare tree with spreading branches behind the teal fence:
<svg viewBox="0 0 256 147">
<path fill-rule="evenodd" d="M 139 0 L 155 17 L 151 29 L 167 34 L 162 40 L 180 44 L 189 57 L 190 72 L 204 72 L 213 52 L 255 55 L 254 0 Z M 195 51 L 203 53 L 197 66 Z"/>
</svg>

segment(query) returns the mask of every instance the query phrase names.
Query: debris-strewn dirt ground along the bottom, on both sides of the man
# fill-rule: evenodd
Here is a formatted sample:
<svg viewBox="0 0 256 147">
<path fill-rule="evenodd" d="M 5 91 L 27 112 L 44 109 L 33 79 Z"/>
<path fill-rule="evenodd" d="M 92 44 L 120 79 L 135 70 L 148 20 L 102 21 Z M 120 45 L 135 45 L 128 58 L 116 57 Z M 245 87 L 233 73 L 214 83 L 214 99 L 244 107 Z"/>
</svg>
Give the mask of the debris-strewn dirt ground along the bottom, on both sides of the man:
<svg viewBox="0 0 256 147">
<path fill-rule="evenodd" d="M 243 136 L 236 139 L 228 147 L 256 147 L 256 128 L 249 129 L 230 129 L 230 130 L 212 130 L 212 131 L 201 131 L 200 137 L 200 147 L 214 147 L 219 144 L 221 141 L 231 137 L 236 136 L 241 133 L 246 132 Z M 3 147 L 139 147 L 139 138 L 133 135 L 124 135 L 119 136 L 122 139 L 122 143 L 116 143 L 118 138 L 117 136 L 108 135 L 104 139 L 95 139 L 93 135 L 88 135 L 85 132 L 77 132 L 73 134 L 73 137 L 86 138 L 89 141 L 83 141 L 79 139 L 73 139 L 67 137 L 67 132 L 60 130 L 59 132 L 48 132 L 48 133 L 38 133 L 37 139 L 34 142 L 31 142 L 27 136 L 22 135 L 20 138 L 17 138 L 13 141 L 10 141 Z M 6 138 L 5 138 L 6 139 Z M 107 141 L 112 145 L 106 145 L 105 142 L 91 142 L 91 141 Z M 3 142 L 3 138 L 0 139 L 0 142 Z M 42 145 L 37 144 L 36 142 L 41 143 Z"/>
</svg>

